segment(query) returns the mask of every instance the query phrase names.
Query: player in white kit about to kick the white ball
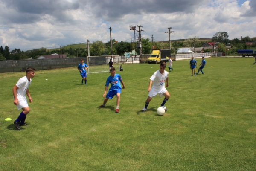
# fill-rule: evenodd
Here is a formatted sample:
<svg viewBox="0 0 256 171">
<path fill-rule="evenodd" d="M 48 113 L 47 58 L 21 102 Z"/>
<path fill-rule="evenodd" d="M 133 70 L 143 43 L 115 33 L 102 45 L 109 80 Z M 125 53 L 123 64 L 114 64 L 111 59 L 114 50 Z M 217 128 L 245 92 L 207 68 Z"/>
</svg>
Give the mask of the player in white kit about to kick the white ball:
<svg viewBox="0 0 256 171">
<path fill-rule="evenodd" d="M 165 70 L 166 63 L 161 62 L 160 63 L 160 70 L 154 72 L 154 74 L 151 76 L 148 86 L 148 99 L 146 100 L 145 107 L 141 110 L 144 112 L 148 108 L 148 104 L 151 101 L 151 99 L 157 94 L 159 94 L 160 97 L 165 96 L 163 103 L 161 104 L 161 107 L 164 108 L 165 111 L 167 111 L 167 108 L 165 106 L 166 101 L 168 101 L 170 94 L 165 88 L 165 81 L 166 81 L 166 87 L 169 86 L 168 83 L 168 75 L 169 72 Z M 152 88 L 151 85 L 153 84 Z"/>
</svg>

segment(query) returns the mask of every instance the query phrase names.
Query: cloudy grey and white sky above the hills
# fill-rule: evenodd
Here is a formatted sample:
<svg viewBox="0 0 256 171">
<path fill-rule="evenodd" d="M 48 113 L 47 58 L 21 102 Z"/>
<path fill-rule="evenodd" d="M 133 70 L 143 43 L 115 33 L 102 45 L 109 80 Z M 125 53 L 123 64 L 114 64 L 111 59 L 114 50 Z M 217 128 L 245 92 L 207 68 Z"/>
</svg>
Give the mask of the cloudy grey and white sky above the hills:
<svg viewBox="0 0 256 171">
<path fill-rule="evenodd" d="M 33 49 L 78 42 L 143 38 L 256 37 L 256 0 L 0 0 L 0 46 Z M 138 32 L 136 32 L 136 38 Z M 134 32 L 132 33 L 134 41 Z"/>
</svg>

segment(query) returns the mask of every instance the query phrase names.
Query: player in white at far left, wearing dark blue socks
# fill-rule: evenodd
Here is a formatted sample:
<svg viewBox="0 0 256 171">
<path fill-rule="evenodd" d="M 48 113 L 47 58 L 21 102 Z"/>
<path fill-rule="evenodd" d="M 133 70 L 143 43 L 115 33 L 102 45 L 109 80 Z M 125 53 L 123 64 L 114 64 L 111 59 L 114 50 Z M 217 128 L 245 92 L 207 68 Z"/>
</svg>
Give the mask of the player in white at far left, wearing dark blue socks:
<svg viewBox="0 0 256 171">
<path fill-rule="evenodd" d="M 13 103 L 17 105 L 18 110 L 22 109 L 20 116 L 14 121 L 17 130 L 20 130 L 20 126 L 27 126 L 25 123 L 26 115 L 29 113 L 30 108 L 26 95 L 29 97 L 29 103 L 32 102 L 32 98 L 29 94 L 29 85 L 31 84 L 31 78 L 35 76 L 34 68 L 26 69 L 26 76 L 19 79 L 17 84 L 12 88 L 12 93 L 14 97 Z"/>
</svg>

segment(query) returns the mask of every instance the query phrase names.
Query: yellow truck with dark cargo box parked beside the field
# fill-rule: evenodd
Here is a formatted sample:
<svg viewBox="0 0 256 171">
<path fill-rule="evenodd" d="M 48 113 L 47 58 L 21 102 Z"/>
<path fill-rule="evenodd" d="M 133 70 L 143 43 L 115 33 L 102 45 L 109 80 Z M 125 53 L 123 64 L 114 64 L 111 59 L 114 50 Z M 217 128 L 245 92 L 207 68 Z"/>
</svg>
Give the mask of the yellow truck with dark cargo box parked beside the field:
<svg viewBox="0 0 256 171">
<path fill-rule="evenodd" d="M 171 57 L 171 50 L 169 49 L 153 49 L 152 54 L 148 58 L 148 64 L 157 64 L 161 61 L 168 61 Z"/>
</svg>

